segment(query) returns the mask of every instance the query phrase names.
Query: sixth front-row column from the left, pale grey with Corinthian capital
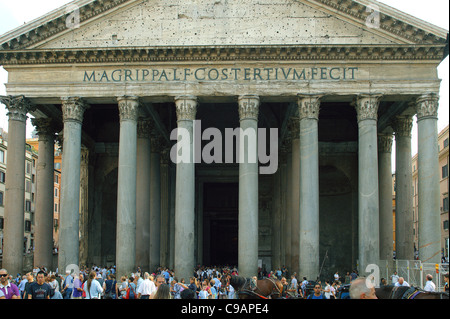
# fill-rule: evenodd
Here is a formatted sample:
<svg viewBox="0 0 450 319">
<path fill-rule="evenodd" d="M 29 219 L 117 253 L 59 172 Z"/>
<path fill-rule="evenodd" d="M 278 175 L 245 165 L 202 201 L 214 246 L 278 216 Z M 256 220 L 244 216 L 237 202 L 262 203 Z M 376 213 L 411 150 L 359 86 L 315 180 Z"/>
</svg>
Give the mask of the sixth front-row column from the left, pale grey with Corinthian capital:
<svg viewBox="0 0 450 319">
<path fill-rule="evenodd" d="M 300 261 L 299 273 L 319 275 L 319 109 L 320 95 L 299 95 Z"/>
</svg>

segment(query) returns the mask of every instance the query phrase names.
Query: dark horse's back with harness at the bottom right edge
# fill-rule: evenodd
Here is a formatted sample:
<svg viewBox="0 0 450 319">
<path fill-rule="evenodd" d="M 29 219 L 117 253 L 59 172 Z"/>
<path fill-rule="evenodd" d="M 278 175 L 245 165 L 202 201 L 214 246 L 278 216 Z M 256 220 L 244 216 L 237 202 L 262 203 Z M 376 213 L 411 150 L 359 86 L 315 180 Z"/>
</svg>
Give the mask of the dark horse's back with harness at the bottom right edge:
<svg viewBox="0 0 450 319">
<path fill-rule="evenodd" d="M 418 287 L 394 285 L 375 288 L 378 299 L 449 299 L 448 292 L 428 292 Z"/>
</svg>

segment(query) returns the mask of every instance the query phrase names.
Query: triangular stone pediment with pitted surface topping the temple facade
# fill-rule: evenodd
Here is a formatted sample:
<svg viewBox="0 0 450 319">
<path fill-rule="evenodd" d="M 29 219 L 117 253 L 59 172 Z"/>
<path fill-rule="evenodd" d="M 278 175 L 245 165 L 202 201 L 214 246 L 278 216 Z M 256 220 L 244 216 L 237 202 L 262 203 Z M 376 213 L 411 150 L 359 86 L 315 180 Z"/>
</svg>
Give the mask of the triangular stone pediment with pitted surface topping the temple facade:
<svg viewBox="0 0 450 319">
<path fill-rule="evenodd" d="M 380 10 L 378 26 L 370 23 L 371 8 Z M 74 10 L 80 23 L 68 24 Z M 391 45 L 442 43 L 446 34 L 376 1 L 78 0 L 0 37 L 0 44 L 3 49 Z"/>
</svg>

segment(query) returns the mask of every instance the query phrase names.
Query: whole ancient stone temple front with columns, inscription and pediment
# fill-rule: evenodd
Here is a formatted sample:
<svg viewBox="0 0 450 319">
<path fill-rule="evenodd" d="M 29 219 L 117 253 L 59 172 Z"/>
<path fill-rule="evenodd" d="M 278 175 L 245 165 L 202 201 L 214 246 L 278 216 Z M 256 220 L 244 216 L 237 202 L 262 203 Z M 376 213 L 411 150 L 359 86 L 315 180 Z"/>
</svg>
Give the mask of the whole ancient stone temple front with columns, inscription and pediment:
<svg viewBox="0 0 450 319">
<path fill-rule="evenodd" d="M 308 278 L 363 273 L 392 258 L 393 134 L 404 176 L 397 251 L 407 257 L 414 114 L 419 250 L 433 262 L 448 31 L 376 4 L 78 0 L 1 36 L 10 145 L 23 148 L 32 114 L 43 181 L 56 136 L 63 144 L 59 269 L 165 265 L 187 278 L 228 261 L 243 276 L 281 265 Z M 18 154 L 8 156 L 21 165 Z M 6 180 L 17 197 L 5 207 L 12 272 L 17 181 Z M 38 194 L 37 241 L 51 227 L 39 205 L 53 184 Z"/>
</svg>

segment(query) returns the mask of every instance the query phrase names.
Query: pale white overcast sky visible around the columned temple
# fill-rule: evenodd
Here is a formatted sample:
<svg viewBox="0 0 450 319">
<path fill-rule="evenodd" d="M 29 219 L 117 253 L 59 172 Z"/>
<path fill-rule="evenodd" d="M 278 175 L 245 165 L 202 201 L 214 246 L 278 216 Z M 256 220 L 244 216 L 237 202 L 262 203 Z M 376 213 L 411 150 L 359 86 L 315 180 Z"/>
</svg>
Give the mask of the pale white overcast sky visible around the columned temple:
<svg viewBox="0 0 450 319">
<path fill-rule="evenodd" d="M 71 0 L 0 0 L 0 35 L 26 22 L 71 2 Z M 436 26 L 449 29 L 449 0 L 381 0 L 391 7 L 411 14 Z M 439 106 L 438 129 L 442 130 L 449 123 L 449 58 L 439 67 L 439 77 L 442 79 L 441 98 Z M 7 73 L 0 67 L 0 95 L 4 95 Z M 0 105 L 0 127 L 8 130 L 6 110 Z M 27 136 L 33 127 L 30 120 L 27 123 Z M 417 152 L 417 125 L 414 123 L 412 153 Z"/>
</svg>

